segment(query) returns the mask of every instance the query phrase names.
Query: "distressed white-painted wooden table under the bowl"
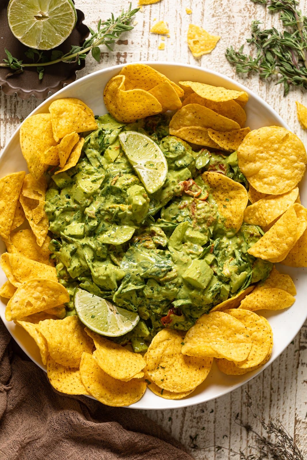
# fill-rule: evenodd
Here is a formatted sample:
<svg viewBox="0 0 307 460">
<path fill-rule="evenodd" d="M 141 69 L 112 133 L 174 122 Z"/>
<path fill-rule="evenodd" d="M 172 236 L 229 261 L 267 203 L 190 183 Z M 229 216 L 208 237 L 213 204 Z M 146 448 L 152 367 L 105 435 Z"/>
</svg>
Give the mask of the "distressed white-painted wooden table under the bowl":
<svg viewBox="0 0 307 460">
<path fill-rule="evenodd" d="M 136 0 L 133 6 L 136 6 Z M 86 23 L 95 29 L 98 19 L 107 19 L 113 11 L 117 14 L 127 8 L 128 0 L 75 0 L 77 8 L 84 11 Z M 93 7 L 94 6 L 94 7 Z M 190 7 L 188 15 L 185 8 Z M 300 1 L 301 9 L 307 14 L 307 0 Z M 182 62 L 213 69 L 235 78 L 266 100 L 290 125 L 291 129 L 307 142 L 307 132 L 301 129 L 295 112 L 295 100 L 307 105 L 307 96 L 300 90 L 291 91 L 283 97 L 283 88 L 273 82 L 259 81 L 256 76 L 239 77 L 226 61 L 225 49 L 229 45 L 238 48 L 249 36 L 250 23 L 260 19 L 267 28 L 278 26 L 278 17 L 267 13 L 262 6 L 249 0 L 162 0 L 154 5 L 144 6 L 135 18 L 135 29 L 121 37 L 114 51 L 102 50 L 101 61 L 87 58 L 86 67 L 78 77 L 114 64 L 133 61 L 160 60 Z M 168 22 L 170 37 L 163 41 L 161 36 L 149 33 L 157 20 Z M 137 23 L 136 23 L 137 22 Z M 220 35 L 214 51 L 195 59 L 186 43 L 189 23 L 200 25 L 214 35 Z M 165 49 L 159 50 L 160 43 Z M 0 149 L 4 147 L 20 121 L 27 116 L 40 101 L 31 98 L 22 101 L 0 92 Z M 306 205 L 306 203 L 305 203 Z M 156 420 L 167 431 L 179 439 L 196 459 L 228 459 L 229 449 L 244 449 L 253 442 L 244 428 L 237 425 L 235 417 L 239 413 L 244 422 L 250 423 L 261 433 L 261 426 L 245 407 L 245 392 L 253 401 L 253 410 L 260 417 L 269 420 L 278 417 L 294 436 L 295 441 L 307 456 L 307 323 L 297 334 L 291 345 L 260 375 L 240 389 L 209 403 L 194 407 L 165 411 L 143 411 Z M 198 448 L 192 448 L 197 445 Z M 221 445 L 220 452 L 209 446 Z M 209 447 L 209 448 L 208 448 Z M 207 448 L 207 449 L 202 449 Z"/>
</svg>

